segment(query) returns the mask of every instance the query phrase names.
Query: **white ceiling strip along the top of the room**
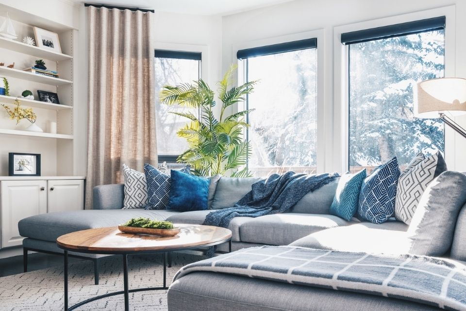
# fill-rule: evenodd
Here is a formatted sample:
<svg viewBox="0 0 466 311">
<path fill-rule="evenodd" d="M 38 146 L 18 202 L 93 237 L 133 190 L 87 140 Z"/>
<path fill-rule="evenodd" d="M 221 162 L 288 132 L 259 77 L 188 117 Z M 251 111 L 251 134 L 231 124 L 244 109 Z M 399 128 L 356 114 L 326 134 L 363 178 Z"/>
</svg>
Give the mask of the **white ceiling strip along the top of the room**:
<svg viewBox="0 0 466 311">
<path fill-rule="evenodd" d="M 155 11 L 196 14 L 229 15 L 292 0 L 73 0 L 82 3 L 98 3 L 129 6 Z"/>
</svg>

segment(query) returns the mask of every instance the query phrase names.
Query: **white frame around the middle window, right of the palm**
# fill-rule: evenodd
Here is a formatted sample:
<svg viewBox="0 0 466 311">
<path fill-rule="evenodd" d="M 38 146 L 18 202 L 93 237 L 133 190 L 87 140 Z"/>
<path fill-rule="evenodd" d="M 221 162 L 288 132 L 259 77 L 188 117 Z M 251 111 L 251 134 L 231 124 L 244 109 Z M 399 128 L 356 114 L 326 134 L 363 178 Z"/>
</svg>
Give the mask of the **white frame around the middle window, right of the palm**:
<svg viewBox="0 0 466 311">
<path fill-rule="evenodd" d="M 254 41 L 248 41 L 248 42 L 243 42 L 243 43 L 238 43 L 238 44 L 233 44 L 233 53 L 232 53 L 232 64 L 238 64 L 238 70 L 237 70 L 237 85 L 242 85 L 245 83 L 244 77 L 245 77 L 245 68 L 242 66 L 243 64 L 246 64 L 246 62 L 243 63 L 243 61 L 238 60 L 236 58 L 236 52 L 239 50 L 244 50 L 244 49 L 252 49 L 252 48 L 257 48 L 257 47 L 263 47 L 267 45 L 273 45 L 273 44 L 280 44 L 280 43 L 286 43 L 286 42 L 292 42 L 292 41 L 298 41 L 298 40 L 304 40 L 304 39 L 309 39 L 309 38 L 317 38 L 317 128 L 316 128 L 316 136 L 317 136 L 317 156 L 316 156 L 316 161 L 317 161 L 317 166 L 316 166 L 316 172 L 317 173 L 324 173 L 325 172 L 325 167 L 326 167 L 326 156 L 325 156 L 325 136 L 326 136 L 326 129 L 325 129 L 325 105 L 324 105 L 324 83 L 325 83 L 325 76 L 324 76 L 324 64 L 325 64 L 325 53 L 324 53 L 324 44 L 325 44 L 325 39 L 324 39 L 324 30 L 323 29 L 318 29 L 314 31 L 308 31 L 308 32 L 303 32 L 303 33 L 297 33 L 297 34 L 291 34 L 291 35 L 283 35 L 283 36 L 277 36 L 277 37 L 271 37 L 271 38 L 266 38 L 266 39 L 260 39 L 260 40 L 254 40 Z M 239 104 L 240 106 L 238 107 L 238 104 L 232 105 L 232 109 L 230 111 L 231 114 L 238 112 L 240 109 L 245 109 L 245 104 Z"/>
</svg>

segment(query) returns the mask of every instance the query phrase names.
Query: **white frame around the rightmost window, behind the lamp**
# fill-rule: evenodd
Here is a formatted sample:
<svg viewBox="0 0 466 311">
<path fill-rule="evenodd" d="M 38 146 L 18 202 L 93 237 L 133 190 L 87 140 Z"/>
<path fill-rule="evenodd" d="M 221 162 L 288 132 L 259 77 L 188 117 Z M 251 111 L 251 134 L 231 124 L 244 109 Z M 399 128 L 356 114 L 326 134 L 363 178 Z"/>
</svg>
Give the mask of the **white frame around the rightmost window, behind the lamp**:
<svg viewBox="0 0 466 311">
<path fill-rule="evenodd" d="M 455 76 L 455 35 L 456 35 L 456 7 L 450 5 L 432 10 L 419 11 L 415 13 L 385 17 L 349 25 L 338 26 L 333 31 L 334 52 L 334 120 L 333 133 L 340 133 L 333 141 L 333 162 L 341 172 L 347 172 L 349 158 L 349 81 L 348 81 L 348 57 L 349 49 L 341 43 L 341 34 L 365 30 L 375 27 L 389 26 L 404 22 L 421 20 L 432 17 L 446 17 L 445 25 L 445 77 Z M 450 169 L 455 167 L 455 133 L 445 126 L 445 161 Z"/>
</svg>

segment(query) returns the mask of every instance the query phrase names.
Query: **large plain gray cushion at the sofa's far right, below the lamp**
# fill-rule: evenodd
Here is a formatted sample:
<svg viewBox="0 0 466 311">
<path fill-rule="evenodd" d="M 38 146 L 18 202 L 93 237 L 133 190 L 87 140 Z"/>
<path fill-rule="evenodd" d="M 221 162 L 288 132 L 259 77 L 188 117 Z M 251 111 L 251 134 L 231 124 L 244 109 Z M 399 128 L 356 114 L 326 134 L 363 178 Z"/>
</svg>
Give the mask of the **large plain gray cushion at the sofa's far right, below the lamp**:
<svg viewBox="0 0 466 311">
<path fill-rule="evenodd" d="M 435 178 L 422 194 L 409 225 L 410 253 L 444 255 L 451 246 L 458 213 L 465 203 L 465 174 L 447 171 Z"/>
</svg>

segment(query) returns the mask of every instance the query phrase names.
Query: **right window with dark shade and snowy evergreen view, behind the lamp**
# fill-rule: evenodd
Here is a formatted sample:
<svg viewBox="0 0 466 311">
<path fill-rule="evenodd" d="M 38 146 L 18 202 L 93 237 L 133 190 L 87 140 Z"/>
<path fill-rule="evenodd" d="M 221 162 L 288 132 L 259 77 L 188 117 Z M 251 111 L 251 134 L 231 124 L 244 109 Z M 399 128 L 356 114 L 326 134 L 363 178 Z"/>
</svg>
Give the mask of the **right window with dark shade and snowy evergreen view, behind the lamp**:
<svg viewBox="0 0 466 311">
<path fill-rule="evenodd" d="M 444 125 L 417 119 L 413 91 L 443 77 L 445 17 L 342 34 L 349 53 L 351 172 L 397 156 L 401 167 L 419 152 L 444 151 Z"/>
</svg>

